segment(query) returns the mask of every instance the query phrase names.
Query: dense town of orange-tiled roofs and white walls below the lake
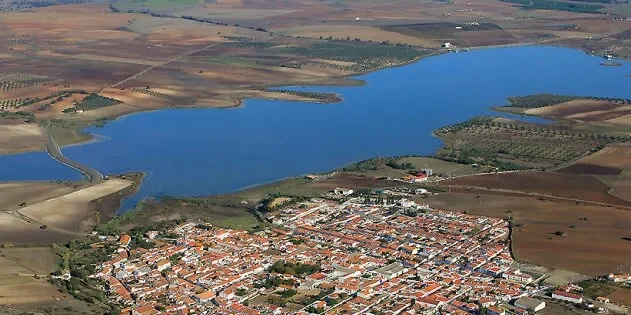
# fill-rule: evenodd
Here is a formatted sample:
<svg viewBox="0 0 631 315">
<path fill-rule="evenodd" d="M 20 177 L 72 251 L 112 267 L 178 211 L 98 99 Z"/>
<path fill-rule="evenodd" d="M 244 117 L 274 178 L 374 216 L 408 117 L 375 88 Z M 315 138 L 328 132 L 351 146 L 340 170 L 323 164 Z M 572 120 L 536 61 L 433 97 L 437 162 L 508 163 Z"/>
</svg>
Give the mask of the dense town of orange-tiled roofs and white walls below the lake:
<svg viewBox="0 0 631 315">
<path fill-rule="evenodd" d="M 184 222 L 147 232 L 152 246 L 122 235 L 92 277 L 123 314 L 502 315 L 584 303 L 579 287 L 542 287 L 544 275 L 515 268 L 507 220 L 351 189 L 279 208 L 256 232 Z"/>
</svg>

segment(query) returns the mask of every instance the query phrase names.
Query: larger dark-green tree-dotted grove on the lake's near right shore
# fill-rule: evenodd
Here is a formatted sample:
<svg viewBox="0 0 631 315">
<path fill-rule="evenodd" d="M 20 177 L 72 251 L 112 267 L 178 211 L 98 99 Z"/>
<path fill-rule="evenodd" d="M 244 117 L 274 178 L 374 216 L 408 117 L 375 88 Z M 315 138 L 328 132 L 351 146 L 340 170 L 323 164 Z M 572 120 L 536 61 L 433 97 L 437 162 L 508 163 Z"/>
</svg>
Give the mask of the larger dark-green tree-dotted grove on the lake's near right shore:
<svg viewBox="0 0 631 315">
<path fill-rule="evenodd" d="M 439 152 L 441 158 L 464 164 L 484 163 L 501 170 L 552 167 L 598 151 L 608 143 L 631 140 L 493 117 L 475 118 L 435 133 L 448 143 Z"/>
</svg>

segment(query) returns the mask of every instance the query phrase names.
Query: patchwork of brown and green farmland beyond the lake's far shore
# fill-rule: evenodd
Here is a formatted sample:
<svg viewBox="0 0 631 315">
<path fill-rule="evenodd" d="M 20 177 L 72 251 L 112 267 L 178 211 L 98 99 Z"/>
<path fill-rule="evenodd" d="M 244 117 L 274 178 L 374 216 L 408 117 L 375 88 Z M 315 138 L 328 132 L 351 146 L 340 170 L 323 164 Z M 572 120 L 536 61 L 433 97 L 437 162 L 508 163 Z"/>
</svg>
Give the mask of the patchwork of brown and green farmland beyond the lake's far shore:
<svg viewBox="0 0 631 315">
<path fill-rule="evenodd" d="M 601 14 L 567 11 L 535 10 L 525 22 L 524 10 L 496 0 L 466 10 L 434 1 L 387 8 L 302 0 L 41 4 L 46 7 L 0 13 L 0 55 L 7 60 L 0 75 L 2 118 L 85 126 L 164 107 L 233 107 L 247 97 L 335 102 L 331 95 L 266 88 L 356 84 L 346 78 L 436 54 L 445 41 L 462 47 L 611 36 L 623 41 L 631 28 L 607 23 Z M 478 21 L 471 12 L 486 18 Z M 551 154 L 552 164 L 564 159 Z"/>
</svg>

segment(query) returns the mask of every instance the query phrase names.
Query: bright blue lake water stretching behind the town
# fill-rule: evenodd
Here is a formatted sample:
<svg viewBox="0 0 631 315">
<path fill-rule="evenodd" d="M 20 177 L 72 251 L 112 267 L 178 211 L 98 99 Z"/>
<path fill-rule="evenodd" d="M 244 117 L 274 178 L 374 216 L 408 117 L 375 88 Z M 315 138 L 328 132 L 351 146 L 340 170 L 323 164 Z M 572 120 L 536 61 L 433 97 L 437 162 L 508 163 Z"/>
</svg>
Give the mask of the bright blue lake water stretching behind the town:
<svg viewBox="0 0 631 315">
<path fill-rule="evenodd" d="M 131 208 L 147 196 L 209 195 L 353 161 L 432 154 L 431 132 L 478 115 L 509 96 L 533 93 L 631 99 L 631 64 L 568 48 L 483 49 L 430 57 L 372 72 L 360 87 L 307 87 L 340 94 L 321 105 L 248 100 L 235 109 L 172 109 L 134 114 L 87 131 L 104 141 L 64 148 L 102 173 L 145 171 Z M 534 119 L 534 118 L 525 118 Z M 45 153 L 0 157 L 0 180 L 76 179 Z"/>
</svg>

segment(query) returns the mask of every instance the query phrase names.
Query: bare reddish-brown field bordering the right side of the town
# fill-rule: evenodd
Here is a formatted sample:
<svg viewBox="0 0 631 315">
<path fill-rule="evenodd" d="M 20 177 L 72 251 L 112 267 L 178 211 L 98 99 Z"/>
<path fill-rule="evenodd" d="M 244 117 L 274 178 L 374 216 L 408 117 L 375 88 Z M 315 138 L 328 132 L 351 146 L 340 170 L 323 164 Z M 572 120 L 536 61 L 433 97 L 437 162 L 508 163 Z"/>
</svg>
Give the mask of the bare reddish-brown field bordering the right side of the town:
<svg viewBox="0 0 631 315">
<path fill-rule="evenodd" d="M 470 193 L 441 193 L 421 198 L 418 203 L 475 215 L 512 217 L 514 254 L 528 263 L 595 276 L 616 271 L 631 255 L 628 241 L 622 239 L 631 228 L 628 210 Z M 566 235 L 556 236 L 556 231 Z"/>
</svg>

